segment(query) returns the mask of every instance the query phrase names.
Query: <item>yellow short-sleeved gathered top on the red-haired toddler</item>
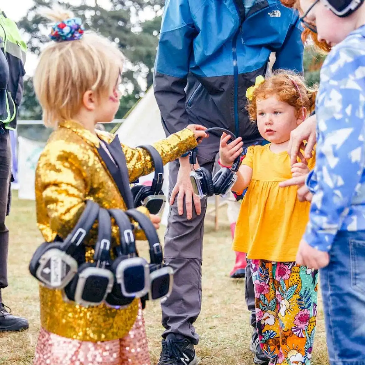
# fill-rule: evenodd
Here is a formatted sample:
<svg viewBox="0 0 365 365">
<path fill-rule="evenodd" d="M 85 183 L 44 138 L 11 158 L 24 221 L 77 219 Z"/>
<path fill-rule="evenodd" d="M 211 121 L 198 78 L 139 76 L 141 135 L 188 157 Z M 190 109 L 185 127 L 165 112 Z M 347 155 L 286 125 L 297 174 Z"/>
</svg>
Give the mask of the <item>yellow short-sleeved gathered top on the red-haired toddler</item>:
<svg viewBox="0 0 365 365">
<path fill-rule="evenodd" d="M 280 188 L 292 177 L 286 151 L 273 153 L 270 143 L 251 146 L 242 164 L 253 169 L 234 233 L 233 249 L 251 260 L 295 261 L 309 217 L 310 203 L 297 199 L 297 187 Z M 315 155 L 308 161 L 311 170 Z"/>
</svg>

